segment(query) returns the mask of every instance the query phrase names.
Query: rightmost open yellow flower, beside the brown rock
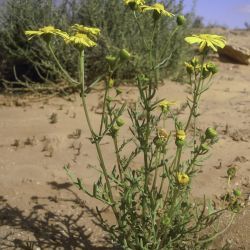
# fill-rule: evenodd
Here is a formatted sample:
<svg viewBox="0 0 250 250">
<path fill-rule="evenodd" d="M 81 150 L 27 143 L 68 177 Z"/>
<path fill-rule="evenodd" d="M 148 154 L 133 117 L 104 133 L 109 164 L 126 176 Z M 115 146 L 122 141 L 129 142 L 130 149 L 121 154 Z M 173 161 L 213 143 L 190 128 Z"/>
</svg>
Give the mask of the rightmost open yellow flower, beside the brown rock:
<svg viewBox="0 0 250 250">
<path fill-rule="evenodd" d="M 202 52 L 206 48 L 211 48 L 213 51 L 217 51 L 216 47 L 224 48 L 226 40 L 223 36 L 211 35 L 211 34 L 200 34 L 192 35 L 185 38 L 185 41 L 189 44 L 198 43 L 199 50 Z"/>
</svg>

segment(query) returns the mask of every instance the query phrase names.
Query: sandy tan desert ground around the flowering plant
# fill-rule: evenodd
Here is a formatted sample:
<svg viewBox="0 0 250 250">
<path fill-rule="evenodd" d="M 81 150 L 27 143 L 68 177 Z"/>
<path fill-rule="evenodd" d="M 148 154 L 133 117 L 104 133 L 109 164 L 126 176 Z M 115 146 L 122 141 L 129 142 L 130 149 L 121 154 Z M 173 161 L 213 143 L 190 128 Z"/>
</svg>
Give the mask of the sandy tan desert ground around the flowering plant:
<svg viewBox="0 0 250 250">
<path fill-rule="evenodd" d="M 220 73 L 201 102 L 199 126 L 215 126 L 220 134 L 212 156 L 194 183 L 194 196 L 219 197 L 226 189 L 225 174 L 236 166 L 234 187 L 250 194 L 250 66 L 217 62 Z M 134 87 L 123 87 L 122 100 L 136 100 Z M 187 85 L 166 81 L 158 96 L 181 106 Z M 102 91 L 87 102 L 98 128 Z M 95 149 L 80 98 L 31 101 L 0 96 L 0 249 L 112 249 L 96 223 L 96 201 L 72 186 L 63 166 L 69 164 L 86 186 L 98 177 Z M 186 111 L 182 117 L 185 118 Z M 128 134 L 125 127 L 121 137 Z M 113 147 L 103 143 L 105 161 L 112 166 Z M 139 160 L 138 160 L 139 163 Z M 109 210 L 107 218 L 112 220 Z M 250 249 L 249 208 L 237 215 L 213 249 Z"/>
</svg>

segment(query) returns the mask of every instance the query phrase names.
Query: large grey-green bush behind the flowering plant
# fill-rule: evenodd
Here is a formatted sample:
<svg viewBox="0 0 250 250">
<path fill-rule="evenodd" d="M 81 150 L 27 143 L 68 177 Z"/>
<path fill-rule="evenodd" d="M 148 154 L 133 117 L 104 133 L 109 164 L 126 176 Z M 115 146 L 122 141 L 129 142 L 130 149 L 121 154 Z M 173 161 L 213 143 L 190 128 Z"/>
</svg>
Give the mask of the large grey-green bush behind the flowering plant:
<svg viewBox="0 0 250 250">
<path fill-rule="evenodd" d="M 152 3 L 154 1 L 148 1 Z M 183 1 L 163 1 L 167 9 L 176 15 L 182 13 Z M 192 15 L 190 15 L 192 16 Z M 126 21 L 125 21 L 126 20 Z M 162 18 L 160 26 L 164 30 L 158 37 L 158 46 L 163 49 L 170 36 L 170 30 L 176 25 L 175 18 Z M 145 31 L 152 24 L 152 17 L 144 18 L 142 27 Z M 39 39 L 28 42 L 25 30 L 37 30 L 46 25 L 54 25 L 62 30 L 68 30 L 74 23 L 99 27 L 102 37 L 100 46 L 87 51 L 88 81 L 93 80 L 104 71 L 104 60 L 108 54 L 118 53 L 120 48 L 126 48 L 135 56 L 141 54 L 142 46 L 139 30 L 136 28 L 133 14 L 123 5 L 122 0 L 6 0 L 1 5 L 0 15 L 0 79 L 10 82 L 61 82 L 64 76 L 51 60 L 45 43 Z M 177 32 L 167 51 L 173 51 L 164 71 L 166 75 L 178 77 L 179 66 L 186 56 L 184 35 L 189 31 L 184 26 Z M 150 35 L 149 32 L 146 34 Z M 56 54 L 63 66 L 74 77 L 77 75 L 75 51 L 57 42 Z M 136 58 L 140 68 L 147 67 L 144 58 Z M 134 65 L 128 64 L 118 74 L 120 79 L 132 79 Z"/>
</svg>

